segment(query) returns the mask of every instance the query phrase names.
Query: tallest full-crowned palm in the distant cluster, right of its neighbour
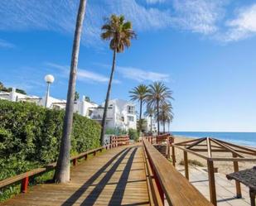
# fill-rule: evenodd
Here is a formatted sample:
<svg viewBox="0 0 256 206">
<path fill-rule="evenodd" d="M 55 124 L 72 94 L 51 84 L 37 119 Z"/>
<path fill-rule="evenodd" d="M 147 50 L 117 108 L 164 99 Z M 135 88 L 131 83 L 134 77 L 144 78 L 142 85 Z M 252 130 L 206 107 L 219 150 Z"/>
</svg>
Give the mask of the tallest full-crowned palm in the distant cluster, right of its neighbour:
<svg viewBox="0 0 256 206">
<path fill-rule="evenodd" d="M 169 103 L 172 98 L 172 91 L 167 88 L 162 82 L 155 82 L 150 84 L 147 93 L 147 108 L 157 108 L 157 132 L 159 135 L 160 120 L 159 120 L 159 108 L 164 103 Z"/>
</svg>

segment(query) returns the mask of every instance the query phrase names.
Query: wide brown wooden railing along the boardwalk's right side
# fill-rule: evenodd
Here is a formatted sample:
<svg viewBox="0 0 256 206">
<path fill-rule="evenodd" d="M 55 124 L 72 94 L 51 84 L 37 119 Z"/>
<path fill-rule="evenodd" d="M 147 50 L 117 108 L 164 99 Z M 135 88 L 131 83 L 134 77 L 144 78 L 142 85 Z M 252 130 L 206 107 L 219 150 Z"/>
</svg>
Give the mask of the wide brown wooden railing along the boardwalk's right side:
<svg viewBox="0 0 256 206">
<path fill-rule="evenodd" d="M 151 205 L 207 206 L 212 205 L 173 165 L 142 139 L 147 185 Z"/>
</svg>

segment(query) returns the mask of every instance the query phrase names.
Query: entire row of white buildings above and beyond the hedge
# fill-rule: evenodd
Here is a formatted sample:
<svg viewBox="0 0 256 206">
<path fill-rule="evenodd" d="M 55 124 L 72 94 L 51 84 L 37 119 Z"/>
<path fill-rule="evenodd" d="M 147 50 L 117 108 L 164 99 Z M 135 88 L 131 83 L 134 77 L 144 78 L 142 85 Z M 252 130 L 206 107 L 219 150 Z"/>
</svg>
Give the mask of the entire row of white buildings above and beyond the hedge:
<svg viewBox="0 0 256 206">
<path fill-rule="evenodd" d="M 46 97 L 40 98 L 37 96 L 17 93 L 14 88 L 11 93 L 0 91 L 0 99 L 7 99 L 12 102 L 26 101 L 36 103 L 36 105 L 42 107 L 46 106 L 46 108 L 54 109 L 65 109 L 66 104 L 64 99 L 53 98 L 51 96 L 48 96 L 46 103 Z M 74 112 L 101 122 L 104 112 L 104 103 L 98 105 L 97 103 L 88 102 L 83 96 L 81 101 L 75 101 Z M 136 129 L 137 118 L 135 105 L 121 99 L 110 100 L 106 120 L 107 128 L 120 128 L 123 130 L 128 130 L 129 128 Z"/>
</svg>

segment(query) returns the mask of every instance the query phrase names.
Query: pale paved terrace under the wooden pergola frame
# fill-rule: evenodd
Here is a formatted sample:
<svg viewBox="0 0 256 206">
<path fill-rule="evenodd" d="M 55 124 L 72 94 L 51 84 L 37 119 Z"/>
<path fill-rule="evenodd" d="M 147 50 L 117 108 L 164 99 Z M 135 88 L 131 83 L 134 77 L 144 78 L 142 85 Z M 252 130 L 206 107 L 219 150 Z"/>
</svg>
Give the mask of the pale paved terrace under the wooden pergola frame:
<svg viewBox="0 0 256 206">
<path fill-rule="evenodd" d="M 182 166 L 178 165 L 177 169 L 184 175 Z M 207 199 L 210 200 L 208 173 L 202 168 L 193 167 L 190 165 L 190 182 L 196 189 L 200 191 Z M 215 173 L 217 204 L 218 206 L 249 206 L 249 188 L 241 184 L 242 199 L 236 199 L 236 190 L 234 180 L 230 181 L 225 178 L 225 175 Z"/>
</svg>

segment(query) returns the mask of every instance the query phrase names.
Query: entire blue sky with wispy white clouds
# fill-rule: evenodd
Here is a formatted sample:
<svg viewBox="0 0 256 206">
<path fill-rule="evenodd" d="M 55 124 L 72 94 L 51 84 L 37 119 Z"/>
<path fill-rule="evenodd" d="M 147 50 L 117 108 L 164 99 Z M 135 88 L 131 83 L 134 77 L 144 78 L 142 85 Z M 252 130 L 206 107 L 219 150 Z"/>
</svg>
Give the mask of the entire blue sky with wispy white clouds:
<svg viewBox="0 0 256 206">
<path fill-rule="evenodd" d="M 1 0 L 0 81 L 66 98 L 78 0 Z M 88 0 L 76 90 L 104 102 L 113 52 L 100 39 L 112 13 L 137 39 L 117 55 L 111 98 L 138 84 L 173 91 L 172 131 L 256 132 L 256 2 L 253 0 Z"/>
</svg>

